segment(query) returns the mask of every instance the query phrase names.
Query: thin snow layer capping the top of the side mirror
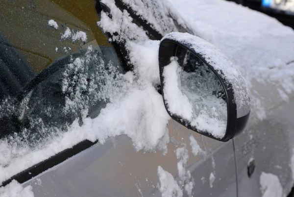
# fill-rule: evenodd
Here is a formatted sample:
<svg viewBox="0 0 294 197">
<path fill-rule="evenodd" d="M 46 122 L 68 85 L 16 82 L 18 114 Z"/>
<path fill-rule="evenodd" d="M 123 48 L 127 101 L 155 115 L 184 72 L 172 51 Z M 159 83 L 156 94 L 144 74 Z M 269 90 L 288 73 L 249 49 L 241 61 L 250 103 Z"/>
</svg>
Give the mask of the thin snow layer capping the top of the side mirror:
<svg viewBox="0 0 294 197">
<path fill-rule="evenodd" d="M 243 117 L 250 112 L 249 90 L 245 78 L 221 50 L 189 33 L 172 32 L 167 34 L 162 41 L 164 39 L 171 39 L 190 46 L 225 79 L 224 82 L 232 84 L 237 104 L 237 118 Z"/>
</svg>

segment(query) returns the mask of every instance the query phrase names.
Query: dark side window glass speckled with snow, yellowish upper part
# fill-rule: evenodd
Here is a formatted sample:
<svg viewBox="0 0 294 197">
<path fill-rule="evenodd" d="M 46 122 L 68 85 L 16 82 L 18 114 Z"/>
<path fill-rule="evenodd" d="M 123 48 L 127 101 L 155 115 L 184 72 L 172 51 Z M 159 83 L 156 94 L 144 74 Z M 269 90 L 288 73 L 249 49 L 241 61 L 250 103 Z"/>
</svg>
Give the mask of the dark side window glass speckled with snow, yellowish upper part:
<svg viewBox="0 0 294 197">
<path fill-rule="evenodd" d="M 98 116 L 123 68 L 95 1 L 0 3 L 0 138 L 36 142 Z"/>
</svg>

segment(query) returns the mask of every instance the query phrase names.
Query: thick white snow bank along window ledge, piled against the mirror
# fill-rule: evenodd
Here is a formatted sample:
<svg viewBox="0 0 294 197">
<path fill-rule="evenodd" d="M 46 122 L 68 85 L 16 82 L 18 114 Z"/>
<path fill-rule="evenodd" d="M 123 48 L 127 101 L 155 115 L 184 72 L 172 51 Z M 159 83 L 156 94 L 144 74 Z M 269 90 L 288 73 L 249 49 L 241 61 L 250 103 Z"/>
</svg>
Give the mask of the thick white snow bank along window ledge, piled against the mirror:
<svg viewBox="0 0 294 197">
<path fill-rule="evenodd" d="M 133 46 L 137 46 L 133 48 L 134 50 L 144 49 L 144 51 L 149 51 L 150 55 L 147 62 L 145 58 L 136 58 L 135 72 L 120 75 L 115 80 L 110 80 L 112 75 L 102 74 L 101 77 L 106 82 L 108 81 L 106 83 L 108 86 L 105 86 L 105 89 L 100 89 L 98 96 L 109 99 L 109 103 L 100 111 L 97 118 L 84 118 L 82 126 L 79 125 L 78 120 L 75 120 L 72 125 L 69 125 L 69 131 L 66 133 L 58 129 L 43 128 L 42 122 L 36 120 L 35 124 L 41 128 L 41 133 L 52 133 L 52 135 L 34 146 L 24 142 L 23 138 L 17 134 L 11 139 L 1 139 L 0 182 L 85 139 L 92 142 L 98 140 L 103 144 L 109 137 L 126 134 L 132 139 L 136 150 L 155 151 L 160 149 L 167 151 L 167 143 L 170 140 L 167 123 L 170 116 L 166 112 L 162 96 L 153 86 L 154 80 L 159 81 L 159 73 L 156 77 L 149 78 L 156 72 L 153 69 L 158 69 L 157 53 L 154 52 L 154 48 L 157 49 L 158 44 L 159 41 L 147 41 L 140 45 L 132 43 Z M 73 59 L 72 65 L 69 66 L 76 69 L 73 69 L 74 72 L 81 69 L 83 63 L 96 61 L 93 56 L 87 56 L 87 54 L 91 54 L 90 50 L 92 49 L 88 48 L 88 53 L 85 56 Z M 135 53 L 135 51 L 130 52 Z M 102 62 L 100 63 L 102 65 Z M 99 72 L 102 71 L 103 69 Z M 111 72 L 110 74 L 115 73 Z M 142 77 L 139 79 L 135 77 L 135 74 Z M 79 77 L 80 81 L 77 82 L 80 82 L 80 87 L 83 87 L 85 82 L 83 75 Z M 100 79 L 102 79 L 101 77 Z M 65 90 L 70 88 L 66 85 L 66 79 L 67 77 L 63 82 Z M 116 83 L 120 85 L 117 86 Z M 79 95 L 78 92 L 73 92 L 73 94 L 77 94 L 73 98 L 81 98 L 81 100 L 68 100 L 69 109 L 82 106 L 84 103 L 82 95 Z"/>
</svg>

